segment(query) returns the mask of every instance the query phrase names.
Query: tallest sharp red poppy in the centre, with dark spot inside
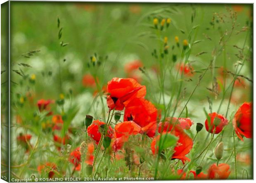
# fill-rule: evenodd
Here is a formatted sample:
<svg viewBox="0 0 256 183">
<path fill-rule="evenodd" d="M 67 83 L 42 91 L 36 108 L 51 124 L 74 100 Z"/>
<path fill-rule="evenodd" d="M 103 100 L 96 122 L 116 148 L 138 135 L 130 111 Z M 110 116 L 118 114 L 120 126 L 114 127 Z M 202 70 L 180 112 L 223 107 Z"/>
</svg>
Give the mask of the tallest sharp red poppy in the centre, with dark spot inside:
<svg viewBox="0 0 256 183">
<path fill-rule="evenodd" d="M 113 78 L 107 83 L 107 105 L 110 110 L 123 110 L 133 98 L 143 98 L 146 95 L 146 86 L 141 86 L 132 78 Z"/>
</svg>

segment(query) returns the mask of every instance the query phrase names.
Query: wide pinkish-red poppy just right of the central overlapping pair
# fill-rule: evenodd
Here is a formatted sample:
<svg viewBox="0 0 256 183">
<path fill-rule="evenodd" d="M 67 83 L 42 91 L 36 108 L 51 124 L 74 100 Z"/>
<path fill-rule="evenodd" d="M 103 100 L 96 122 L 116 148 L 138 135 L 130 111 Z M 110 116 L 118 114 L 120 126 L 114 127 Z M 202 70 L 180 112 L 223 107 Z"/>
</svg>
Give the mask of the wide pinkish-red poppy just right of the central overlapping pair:
<svg viewBox="0 0 256 183">
<path fill-rule="evenodd" d="M 177 121 L 177 123 L 176 123 Z M 176 123 L 176 124 L 175 124 Z M 190 127 L 194 124 L 194 122 L 190 118 L 166 118 L 166 122 L 164 123 L 163 132 L 171 131 L 171 127 L 175 124 L 175 127 L 181 127 L 183 130 L 189 130 Z M 162 123 L 159 123 L 159 133 L 161 132 Z"/>
</svg>

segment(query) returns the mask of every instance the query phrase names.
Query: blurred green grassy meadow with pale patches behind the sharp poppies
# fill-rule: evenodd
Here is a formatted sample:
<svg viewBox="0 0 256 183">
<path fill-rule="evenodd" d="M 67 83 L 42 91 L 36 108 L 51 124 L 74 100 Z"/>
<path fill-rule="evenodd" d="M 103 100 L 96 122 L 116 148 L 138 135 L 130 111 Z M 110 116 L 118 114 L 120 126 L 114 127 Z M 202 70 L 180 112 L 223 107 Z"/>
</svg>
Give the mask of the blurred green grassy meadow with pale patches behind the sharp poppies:
<svg viewBox="0 0 256 183">
<path fill-rule="evenodd" d="M 236 12 L 235 23 L 230 19 L 230 12 Z M 161 17 L 171 18 L 169 27 L 160 31 L 160 35 L 154 29 L 154 17 L 159 17 L 160 22 Z M 1 36 L 4 37 L 4 34 Z M 175 42 L 175 36 L 179 38 L 180 47 Z M 176 65 L 181 58 L 183 40 L 190 40 L 190 36 L 194 44 L 189 42 L 192 48 L 187 61 L 195 72 L 192 76 L 184 76 L 175 81 L 175 74 L 178 72 Z M 95 119 L 102 120 L 107 117 L 102 114 L 102 107 L 107 111 L 106 100 L 103 101 L 102 106 L 100 97 L 97 97 L 97 90 L 106 86 L 113 77 L 128 77 L 129 73 L 125 71 L 125 65 L 133 60 L 140 60 L 143 64 L 141 69 L 143 72 L 137 69 L 135 74 L 140 77 L 139 83 L 147 87 L 145 98 L 157 109 L 163 110 L 163 103 L 158 101 L 161 90 L 155 72 L 159 63 L 152 53 L 154 49 L 159 51 L 161 47 L 159 42 L 164 37 L 168 37 L 168 46 L 170 46 L 168 54 L 164 57 L 166 59 L 164 68 L 168 70 L 164 79 L 165 100 L 170 100 L 173 87 L 178 87 L 181 81 L 184 82 L 182 93 L 176 100 L 178 102 L 174 116 L 177 117 L 197 85 L 199 76 L 208 67 L 215 52 L 220 50 L 213 68 L 209 69 L 201 79 L 182 116 L 188 116 L 194 121 L 194 125 L 187 132 L 194 137 L 196 123 L 204 124 L 206 119 L 204 109 L 208 112 L 217 111 L 223 98 L 219 114 L 225 116 L 229 106 L 227 118 L 230 122 L 225 127 L 222 138 L 225 146 L 221 161 L 227 161 L 231 171 L 229 178 L 235 178 L 231 119 L 243 102 L 252 101 L 252 82 L 249 81 L 253 73 L 252 5 L 88 2 L 11 2 L 11 177 L 28 178 L 32 174 L 36 177 L 47 177 L 47 174 L 38 172 L 38 166 L 45 162 L 57 164 L 59 174 L 55 173 L 55 176 L 69 177 L 73 165 L 69 162 L 68 155 L 71 149 L 80 146 L 85 138 L 85 115 L 90 114 Z M 224 46 L 223 40 L 227 40 Z M 5 51 L 6 44 L 5 39 L 2 39 L 2 51 Z M 242 48 L 244 49 L 241 53 Z M 88 67 L 90 57 L 95 56 L 95 53 L 97 58 L 102 57 L 101 65 L 97 68 Z M 173 55 L 177 56 L 176 62 L 173 60 Z M 214 84 L 220 82 L 218 80 L 221 75 L 220 67 L 235 73 L 236 65 L 242 63 L 241 57 L 239 58 L 241 55 L 247 56 L 239 73 L 243 76 L 241 80 L 244 83 L 242 86 L 234 87 L 232 99 L 231 88 L 224 96 L 222 90 L 218 90 L 218 94 L 210 91 L 214 89 Z M 2 64 L 2 60 L 5 59 L 5 55 L 2 54 L 1 71 L 5 68 Z M 86 74 L 96 72 L 92 71 L 93 68 L 96 68 L 99 86 L 83 81 Z M 2 82 L 3 78 L 2 76 Z M 232 82 L 232 78 L 232 74 L 229 74 L 227 85 Z M 177 93 L 175 97 L 176 95 Z M 54 114 L 65 116 L 66 121 L 70 123 L 71 147 L 64 145 L 61 151 L 57 151 L 52 139 L 53 132 L 45 130 L 45 124 L 51 122 L 52 116 L 38 114 L 36 102 L 40 99 L 55 100 L 55 104 L 51 104 L 51 110 Z M 62 99 L 64 104 L 58 105 L 56 101 Z M 3 111 L 5 107 L 2 100 L 1 110 Z M 173 104 L 170 114 L 174 108 Z M 121 120 L 122 118 L 123 116 Z M 32 136 L 30 143 L 33 151 L 30 150 L 30 153 L 26 153 L 26 148 L 17 142 L 17 137 L 21 133 Z M 198 148 L 194 149 L 193 153 L 198 155 L 204 144 L 209 141 L 209 139 L 207 142 L 204 141 L 207 134 L 204 127 L 197 136 L 195 143 Z M 2 141 L 4 140 L 3 138 Z M 139 144 L 139 141 L 133 140 Z M 217 141 L 211 145 L 201 164 L 204 172 L 211 164 L 216 163 L 212 152 Z M 251 142 L 251 139 L 246 138 L 244 142 L 236 141 L 237 155 L 239 155 L 237 178 L 253 176 Z M 136 143 L 133 146 L 136 147 Z M 151 169 L 154 156 L 150 150 L 150 143 L 151 140 L 148 139 L 144 149 L 135 148 L 138 154 L 146 154 L 146 163 L 138 166 L 141 168 L 142 177 L 154 177 L 154 171 Z M 4 154 L 7 148 L 1 147 L 1 150 Z M 187 156 L 190 158 L 191 153 Z M 170 163 L 175 164 L 175 162 L 178 161 L 173 160 Z M 4 169 L 6 164 L 2 161 L 1 166 Z M 168 168 L 166 169 L 165 166 Z M 171 166 L 165 166 L 159 166 L 160 180 L 179 178 L 171 174 Z M 183 164 L 179 161 L 175 164 L 175 171 L 182 167 Z M 111 163 L 105 158 L 97 176 L 137 177 L 137 174 L 137 169 L 129 171 L 126 168 L 125 160 Z M 81 175 L 77 171 L 73 176 Z"/>
</svg>

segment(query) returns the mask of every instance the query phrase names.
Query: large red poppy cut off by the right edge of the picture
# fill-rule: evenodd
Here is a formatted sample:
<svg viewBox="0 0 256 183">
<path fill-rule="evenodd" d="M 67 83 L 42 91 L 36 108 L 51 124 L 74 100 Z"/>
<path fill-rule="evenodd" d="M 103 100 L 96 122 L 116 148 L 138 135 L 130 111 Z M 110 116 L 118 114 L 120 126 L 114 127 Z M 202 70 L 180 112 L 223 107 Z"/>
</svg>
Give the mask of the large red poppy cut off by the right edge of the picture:
<svg viewBox="0 0 256 183">
<path fill-rule="evenodd" d="M 252 102 L 244 102 L 239 107 L 232 123 L 239 139 L 244 141 L 242 136 L 252 138 Z"/>
</svg>

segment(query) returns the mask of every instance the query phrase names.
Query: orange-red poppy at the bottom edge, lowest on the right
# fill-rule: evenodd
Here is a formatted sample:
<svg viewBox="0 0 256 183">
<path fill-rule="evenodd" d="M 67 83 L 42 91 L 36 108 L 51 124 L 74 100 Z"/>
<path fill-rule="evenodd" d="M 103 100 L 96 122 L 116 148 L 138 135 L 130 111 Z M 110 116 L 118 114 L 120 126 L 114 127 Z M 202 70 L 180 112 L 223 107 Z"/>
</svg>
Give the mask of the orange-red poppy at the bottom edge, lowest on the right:
<svg viewBox="0 0 256 183">
<path fill-rule="evenodd" d="M 225 163 L 220 163 L 218 166 L 216 164 L 211 165 L 208 169 L 209 179 L 227 179 L 230 174 L 230 166 Z"/>
</svg>

